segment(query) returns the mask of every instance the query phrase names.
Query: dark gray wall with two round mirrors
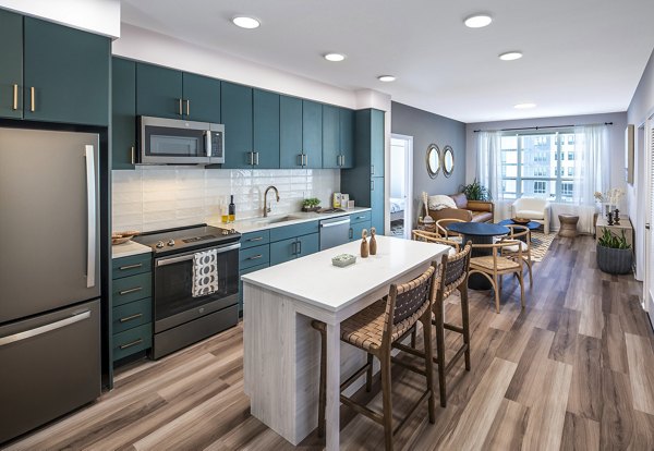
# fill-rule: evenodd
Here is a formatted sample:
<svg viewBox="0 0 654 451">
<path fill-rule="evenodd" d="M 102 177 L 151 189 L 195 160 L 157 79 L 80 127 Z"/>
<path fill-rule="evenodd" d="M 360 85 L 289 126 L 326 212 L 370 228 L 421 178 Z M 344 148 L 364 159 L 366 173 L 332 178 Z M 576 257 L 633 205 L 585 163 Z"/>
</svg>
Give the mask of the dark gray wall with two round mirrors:
<svg viewBox="0 0 654 451">
<path fill-rule="evenodd" d="M 393 101 L 391 103 L 391 133 L 413 136 L 413 221 L 423 211 L 417 210 L 422 203 L 422 192 L 429 194 L 453 194 L 465 181 L 465 124 L 453 119 L 434 114 L 417 108 Z M 426 168 L 426 153 L 429 144 L 441 150 L 450 145 L 455 150 L 455 171 L 446 178 L 443 171 L 436 179 L 429 178 Z M 389 173 L 392 172 L 392 167 Z"/>
</svg>

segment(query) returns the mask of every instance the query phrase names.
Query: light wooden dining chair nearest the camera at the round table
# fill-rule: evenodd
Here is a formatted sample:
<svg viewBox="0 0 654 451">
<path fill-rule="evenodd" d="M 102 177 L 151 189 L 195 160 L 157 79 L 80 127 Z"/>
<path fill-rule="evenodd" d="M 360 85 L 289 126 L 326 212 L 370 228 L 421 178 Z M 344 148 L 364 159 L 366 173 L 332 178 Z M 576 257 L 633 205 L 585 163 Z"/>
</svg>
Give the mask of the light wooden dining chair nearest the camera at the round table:
<svg viewBox="0 0 654 451">
<path fill-rule="evenodd" d="M 495 309 L 499 313 L 499 296 L 501 291 L 501 277 L 516 273 L 520 281 L 520 304 L 524 308 L 524 281 L 522 277 L 522 243 L 520 240 L 502 239 L 493 244 L 473 244 L 474 249 L 485 251 L 489 255 L 472 257 L 470 272 L 480 273 L 491 281 L 495 291 Z M 516 257 L 507 257 L 505 249 L 517 249 Z M 508 251 L 507 251 L 508 252 Z"/>
</svg>

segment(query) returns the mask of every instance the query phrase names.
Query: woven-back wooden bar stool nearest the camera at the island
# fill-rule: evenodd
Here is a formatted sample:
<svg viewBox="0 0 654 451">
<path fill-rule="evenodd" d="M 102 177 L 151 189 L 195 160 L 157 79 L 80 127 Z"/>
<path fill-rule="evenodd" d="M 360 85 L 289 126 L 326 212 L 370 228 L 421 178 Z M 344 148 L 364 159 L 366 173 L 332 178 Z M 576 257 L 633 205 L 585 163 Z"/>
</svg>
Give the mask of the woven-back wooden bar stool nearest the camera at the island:
<svg viewBox="0 0 654 451">
<path fill-rule="evenodd" d="M 447 258 L 447 257 L 446 257 Z M 367 362 L 350 378 L 341 383 L 340 401 L 352 407 L 360 414 L 379 423 L 384 426 L 384 438 L 387 450 L 392 450 L 392 437 L 405 424 L 407 419 L 415 409 L 426 399 L 428 407 L 429 423 L 435 422 L 435 402 L 434 402 L 434 368 L 432 351 L 432 302 L 435 296 L 435 275 L 436 263 L 423 272 L 420 277 L 400 285 L 392 283 L 388 295 L 376 301 L 374 304 L 363 310 L 352 315 L 340 325 L 341 341 L 356 346 L 367 352 Z M 391 357 L 391 349 L 396 348 L 396 342 L 407 336 L 417 321 L 423 324 L 424 330 L 424 367 L 407 364 Z M 325 409 L 326 409 L 326 376 L 327 376 L 327 346 L 326 325 L 325 322 L 313 320 L 312 327 L 320 332 L 320 382 L 318 398 L 318 436 L 325 435 Z M 413 350 L 412 350 L 413 351 Z M 414 352 L 413 352 L 414 353 Z M 366 390 L 372 387 L 373 377 L 373 356 L 379 359 L 382 364 L 382 399 L 383 412 L 375 412 L 365 405 L 359 404 L 351 398 L 342 394 L 342 391 L 350 387 L 359 377 L 366 375 Z M 420 400 L 413 405 L 405 418 L 393 429 L 392 428 L 392 402 L 391 402 L 391 361 L 407 369 L 425 376 L 426 390 L 420 397 Z"/>
</svg>

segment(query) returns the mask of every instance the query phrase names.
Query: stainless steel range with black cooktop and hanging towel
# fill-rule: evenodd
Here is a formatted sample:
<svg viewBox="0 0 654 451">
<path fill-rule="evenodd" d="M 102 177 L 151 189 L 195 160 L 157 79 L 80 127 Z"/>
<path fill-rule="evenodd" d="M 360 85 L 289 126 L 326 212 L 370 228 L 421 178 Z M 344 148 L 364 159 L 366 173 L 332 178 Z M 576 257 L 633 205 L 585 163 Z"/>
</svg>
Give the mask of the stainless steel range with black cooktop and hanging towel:
<svg viewBox="0 0 654 451">
<path fill-rule="evenodd" d="M 207 224 L 144 233 L 154 253 L 153 358 L 239 321 L 241 234 Z"/>
</svg>

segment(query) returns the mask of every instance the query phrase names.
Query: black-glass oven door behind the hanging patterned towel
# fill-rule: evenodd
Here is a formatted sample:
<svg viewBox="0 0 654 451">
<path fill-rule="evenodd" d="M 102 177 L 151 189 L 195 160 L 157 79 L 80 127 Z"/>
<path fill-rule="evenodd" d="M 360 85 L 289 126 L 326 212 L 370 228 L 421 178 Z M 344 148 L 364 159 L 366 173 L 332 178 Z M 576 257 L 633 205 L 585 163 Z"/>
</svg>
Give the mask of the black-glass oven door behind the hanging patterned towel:
<svg viewBox="0 0 654 451">
<path fill-rule="evenodd" d="M 155 258 L 155 333 L 191 321 L 239 302 L 239 248 L 241 243 Z M 218 253 L 218 290 L 193 296 L 195 254 Z"/>
</svg>

